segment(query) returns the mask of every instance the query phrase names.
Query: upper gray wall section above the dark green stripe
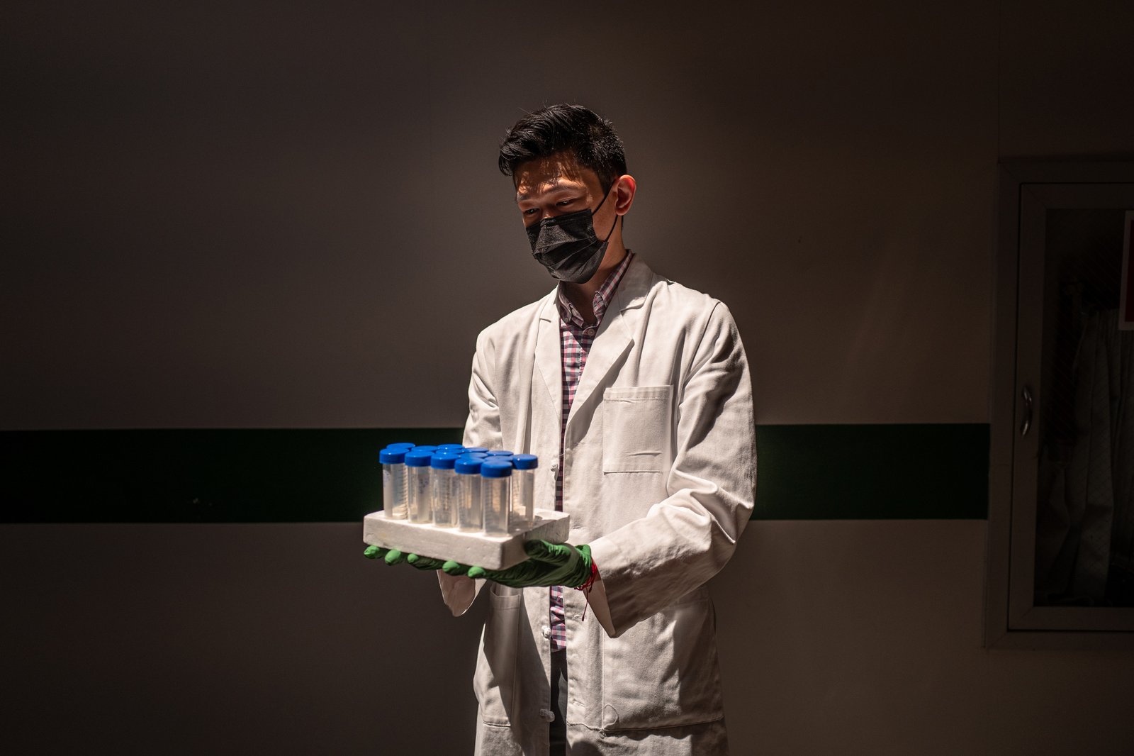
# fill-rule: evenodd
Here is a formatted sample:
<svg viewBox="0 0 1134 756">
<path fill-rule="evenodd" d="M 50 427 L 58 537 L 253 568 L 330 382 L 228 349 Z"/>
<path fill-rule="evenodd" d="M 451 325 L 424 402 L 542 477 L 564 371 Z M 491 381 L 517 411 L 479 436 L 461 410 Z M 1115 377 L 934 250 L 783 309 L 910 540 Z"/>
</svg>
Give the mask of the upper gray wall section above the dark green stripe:
<svg viewBox="0 0 1134 756">
<path fill-rule="evenodd" d="M 985 419 L 998 121 L 1033 150 L 1050 94 L 998 86 L 988 3 L 178 5 L 6 24 L 0 427 L 459 425 L 476 331 L 550 288 L 496 149 L 561 100 L 628 145 L 628 244 L 734 310 L 762 422 Z"/>
</svg>

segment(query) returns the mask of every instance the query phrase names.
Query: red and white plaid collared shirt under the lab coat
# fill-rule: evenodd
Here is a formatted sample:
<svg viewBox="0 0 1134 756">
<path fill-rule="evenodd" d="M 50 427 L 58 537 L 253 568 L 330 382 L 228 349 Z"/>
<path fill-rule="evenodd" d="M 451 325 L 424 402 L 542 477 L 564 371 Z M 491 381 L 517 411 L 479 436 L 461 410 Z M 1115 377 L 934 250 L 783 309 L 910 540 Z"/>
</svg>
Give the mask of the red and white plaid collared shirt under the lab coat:
<svg viewBox="0 0 1134 756">
<path fill-rule="evenodd" d="M 567 415 L 570 413 L 572 402 L 575 401 L 578 379 L 583 375 L 583 368 L 586 367 L 586 355 L 590 354 L 594 335 L 602 324 L 602 316 L 606 314 L 610 297 L 618 287 L 618 282 L 623 279 L 623 274 L 629 268 L 633 257 L 634 253 L 627 250 L 623 261 L 594 293 L 594 300 L 591 303 L 594 308 L 594 322 L 592 324 L 583 321 L 583 316 L 564 294 L 562 286 L 559 287 L 557 302 L 559 305 L 559 353 L 562 360 L 562 415 L 559 423 L 559 467 L 556 469 L 556 509 L 559 511 L 564 509 L 564 432 L 567 430 Z M 549 630 L 551 650 L 567 648 L 562 586 L 552 586 L 551 588 Z"/>
</svg>

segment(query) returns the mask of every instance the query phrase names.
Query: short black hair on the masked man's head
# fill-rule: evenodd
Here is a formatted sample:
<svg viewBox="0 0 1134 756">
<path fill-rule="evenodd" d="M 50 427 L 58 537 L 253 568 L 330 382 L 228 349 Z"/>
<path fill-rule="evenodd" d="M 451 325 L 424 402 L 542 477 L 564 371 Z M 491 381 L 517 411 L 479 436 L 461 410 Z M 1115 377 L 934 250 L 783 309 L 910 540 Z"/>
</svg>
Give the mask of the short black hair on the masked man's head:
<svg viewBox="0 0 1134 756">
<path fill-rule="evenodd" d="M 566 102 L 530 112 L 508 129 L 500 142 L 500 173 L 515 176 L 528 160 L 557 152 L 570 153 L 579 166 L 593 170 L 604 192 L 626 173 L 623 141 L 610 121 Z"/>
</svg>

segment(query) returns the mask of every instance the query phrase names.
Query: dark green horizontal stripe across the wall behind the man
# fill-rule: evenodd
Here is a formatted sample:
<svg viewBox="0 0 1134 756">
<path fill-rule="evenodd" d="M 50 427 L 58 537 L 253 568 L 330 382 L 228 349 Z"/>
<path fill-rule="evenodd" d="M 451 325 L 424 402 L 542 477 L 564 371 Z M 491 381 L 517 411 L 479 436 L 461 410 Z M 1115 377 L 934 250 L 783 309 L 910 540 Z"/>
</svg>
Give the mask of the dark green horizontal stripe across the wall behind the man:
<svg viewBox="0 0 1134 756">
<path fill-rule="evenodd" d="M 335 522 L 381 507 L 378 450 L 458 428 L 0 431 L 3 522 Z M 760 426 L 754 519 L 981 519 L 985 425 Z"/>
</svg>

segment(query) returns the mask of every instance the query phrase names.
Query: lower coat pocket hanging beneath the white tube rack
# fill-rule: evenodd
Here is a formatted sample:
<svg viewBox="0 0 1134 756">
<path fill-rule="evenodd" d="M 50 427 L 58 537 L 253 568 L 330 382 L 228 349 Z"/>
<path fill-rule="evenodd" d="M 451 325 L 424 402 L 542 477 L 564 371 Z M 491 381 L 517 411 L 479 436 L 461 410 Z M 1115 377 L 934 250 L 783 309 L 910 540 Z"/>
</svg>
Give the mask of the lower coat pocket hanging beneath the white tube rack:
<svg viewBox="0 0 1134 756">
<path fill-rule="evenodd" d="M 524 597 L 518 589 L 494 582 L 489 583 L 488 594 L 489 616 L 481 636 L 473 691 L 483 722 L 507 725 L 517 711 L 516 657 L 521 623 L 526 627 Z"/>
</svg>

